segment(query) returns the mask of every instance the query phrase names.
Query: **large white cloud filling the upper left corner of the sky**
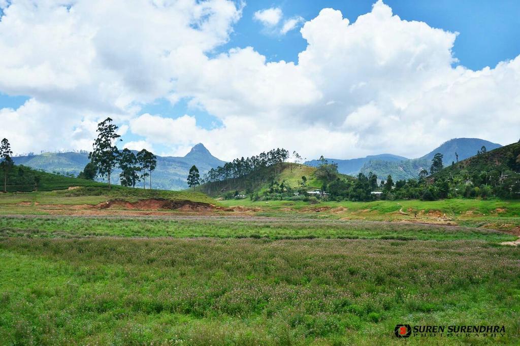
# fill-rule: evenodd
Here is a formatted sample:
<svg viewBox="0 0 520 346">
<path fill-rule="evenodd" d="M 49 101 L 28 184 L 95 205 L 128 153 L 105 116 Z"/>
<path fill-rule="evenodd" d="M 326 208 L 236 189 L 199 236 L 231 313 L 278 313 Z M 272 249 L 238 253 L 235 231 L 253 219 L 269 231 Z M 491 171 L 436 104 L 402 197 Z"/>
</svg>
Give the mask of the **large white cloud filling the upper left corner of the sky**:
<svg viewBox="0 0 520 346">
<path fill-rule="evenodd" d="M 27 134 L 13 143 L 17 151 L 61 148 L 71 132 L 76 145 L 87 136 L 76 128 L 82 124 L 108 115 L 125 122 L 141 105 L 173 97 L 176 51 L 203 54 L 226 43 L 241 15 L 227 0 L 12 0 L 3 6 L 0 92 L 32 98 L 18 110 L 2 110 L 12 121 L 0 132 Z M 32 141 L 33 124 L 48 128 L 42 132 L 54 141 L 40 134 L 40 142 Z"/>
</svg>

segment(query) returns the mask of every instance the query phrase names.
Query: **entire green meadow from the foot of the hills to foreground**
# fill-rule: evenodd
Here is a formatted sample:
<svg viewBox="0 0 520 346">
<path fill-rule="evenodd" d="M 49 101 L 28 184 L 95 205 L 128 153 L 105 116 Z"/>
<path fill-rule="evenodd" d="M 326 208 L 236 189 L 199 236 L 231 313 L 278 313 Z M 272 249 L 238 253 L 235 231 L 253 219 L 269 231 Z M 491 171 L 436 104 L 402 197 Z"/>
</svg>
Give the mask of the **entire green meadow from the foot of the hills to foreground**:
<svg viewBox="0 0 520 346">
<path fill-rule="evenodd" d="M 146 198 L 219 209 L 44 215 Z M 518 344 L 520 248 L 489 225 L 518 224 L 519 209 L 99 187 L 1 194 L 0 344 Z M 413 210 L 459 225 L 402 222 Z M 404 323 L 504 325 L 506 335 L 399 340 Z"/>
</svg>

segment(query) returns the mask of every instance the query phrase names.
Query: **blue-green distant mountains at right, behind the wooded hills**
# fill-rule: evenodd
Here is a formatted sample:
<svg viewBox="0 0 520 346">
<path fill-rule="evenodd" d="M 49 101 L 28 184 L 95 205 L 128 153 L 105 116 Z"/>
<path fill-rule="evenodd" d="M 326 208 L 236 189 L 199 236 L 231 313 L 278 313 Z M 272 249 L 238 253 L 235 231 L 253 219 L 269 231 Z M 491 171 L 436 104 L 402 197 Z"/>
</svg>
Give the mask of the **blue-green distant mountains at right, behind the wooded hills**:
<svg viewBox="0 0 520 346">
<path fill-rule="evenodd" d="M 337 163 L 340 173 L 348 175 L 357 175 L 362 172 L 368 175 L 369 172 L 377 175 L 379 179 L 386 179 L 391 175 L 395 180 L 417 178 L 422 169 L 430 169 L 432 165 L 433 156 L 436 153 L 443 154 L 443 163 L 445 166 L 452 162 L 457 162 L 455 153 L 459 155 L 459 161 L 477 154 L 477 151 L 482 147 L 486 147 L 488 151 L 502 147 L 498 143 L 492 143 L 478 138 L 453 138 L 441 144 L 426 155 L 409 159 L 406 157 L 381 154 L 362 158 L 353 159 L 334 159 L 328 158 L 329 162 Z M 308 161 L 306 165 L 315 166 L 318 164 L 317 160 Z"/>
</svg>

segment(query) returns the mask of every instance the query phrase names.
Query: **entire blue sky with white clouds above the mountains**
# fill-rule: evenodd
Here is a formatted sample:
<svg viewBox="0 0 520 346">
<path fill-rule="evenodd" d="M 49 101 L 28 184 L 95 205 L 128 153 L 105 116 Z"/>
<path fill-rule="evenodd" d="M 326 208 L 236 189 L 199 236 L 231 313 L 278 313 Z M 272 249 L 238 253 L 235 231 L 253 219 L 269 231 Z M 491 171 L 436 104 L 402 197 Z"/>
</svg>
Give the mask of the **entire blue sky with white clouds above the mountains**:
<svg viewBox="0 0 520 346">
<path fill-rule="evenodd" d="M 518 1 L 0 0 L 0 137 L 231 160 L 520 138 Z"/>
</svg>

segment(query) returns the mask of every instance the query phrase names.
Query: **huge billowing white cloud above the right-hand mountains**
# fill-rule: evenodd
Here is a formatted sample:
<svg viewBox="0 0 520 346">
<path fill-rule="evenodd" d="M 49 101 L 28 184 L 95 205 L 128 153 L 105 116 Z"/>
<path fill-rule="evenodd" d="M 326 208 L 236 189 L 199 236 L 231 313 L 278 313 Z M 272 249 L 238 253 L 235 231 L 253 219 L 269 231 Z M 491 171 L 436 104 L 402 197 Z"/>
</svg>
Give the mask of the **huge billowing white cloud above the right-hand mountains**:
<svg viewBox="0 0 520 346">
<path fill-rule="evenodd" d="M 177 92 L 222 119 L 218 133 L 244 155 L 288 143 L 309 157 L 418 157 L 453 137 L 517 140 L 520 57 L 453 67 L 457 33 L 401 20 L 382 2 L 354 23 L 323 9 L 301 32 L 308 46 L 297 64 L 266 62 L 250 47 L 179 59 Z M 235 142 L 238 118 L 247 135 Z"/>
</svg>

